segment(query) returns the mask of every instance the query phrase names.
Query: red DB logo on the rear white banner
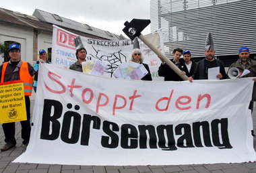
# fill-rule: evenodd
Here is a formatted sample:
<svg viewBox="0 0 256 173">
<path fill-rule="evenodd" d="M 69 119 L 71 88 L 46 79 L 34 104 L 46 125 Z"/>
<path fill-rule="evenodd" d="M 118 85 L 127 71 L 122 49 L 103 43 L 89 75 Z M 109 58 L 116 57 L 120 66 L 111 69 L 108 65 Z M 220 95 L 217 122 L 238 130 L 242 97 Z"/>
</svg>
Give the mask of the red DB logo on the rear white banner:
<svg viewBox="0 0 256 173">
<path fill-rule="evenodd" d="M 65 48 L 75 50 L 75 41 L 76 35 L 69 34 L 63 30 L 57 30 L 57 45 L 63 46 Z"/>
</svg>

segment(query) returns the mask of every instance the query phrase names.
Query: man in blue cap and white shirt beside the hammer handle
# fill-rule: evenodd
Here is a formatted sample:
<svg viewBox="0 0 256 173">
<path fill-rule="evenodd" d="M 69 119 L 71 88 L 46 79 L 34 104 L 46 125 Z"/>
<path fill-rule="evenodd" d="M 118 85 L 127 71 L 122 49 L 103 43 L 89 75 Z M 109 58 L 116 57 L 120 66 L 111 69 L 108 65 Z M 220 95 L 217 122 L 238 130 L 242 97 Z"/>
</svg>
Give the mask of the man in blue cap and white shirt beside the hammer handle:
<svg viewBox="0 0 256 173">
<path fill-rule="evenodd" d="M 191 60 L 191 53 L 189 50 L 183 51 L 183 59 L 187 68 L 184 71 L 186 72 L 187 76 L 192 76 L 194 74 L 197 64 Z"/>
</svg>

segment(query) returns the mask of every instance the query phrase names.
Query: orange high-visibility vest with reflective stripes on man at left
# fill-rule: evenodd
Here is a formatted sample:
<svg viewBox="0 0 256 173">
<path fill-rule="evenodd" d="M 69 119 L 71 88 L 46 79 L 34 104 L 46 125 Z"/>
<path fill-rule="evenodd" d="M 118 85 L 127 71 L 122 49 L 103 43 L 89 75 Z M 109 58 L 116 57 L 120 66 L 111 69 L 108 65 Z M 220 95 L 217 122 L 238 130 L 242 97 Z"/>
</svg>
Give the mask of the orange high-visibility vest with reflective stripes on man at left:
<svg viewBox="0 0 256 173">
<path fill-rule="evenodd" d="M 2 76 L 1 76 L 1 83 L 3 83 L 3 80 L 5 78 L 5 71 L 7 68 L 7 64 L 9 62 L 3 63 L 3 70 L 2 70 Z M 28 71 L 28 62 L 22 61 L 22 66 L 20 66 L 20 80 L 22 80 L 24 84 L 24 95 L 30 96 L 32 94 L 32 76 L 30 75 L 30 72 Z"/>
</svg>

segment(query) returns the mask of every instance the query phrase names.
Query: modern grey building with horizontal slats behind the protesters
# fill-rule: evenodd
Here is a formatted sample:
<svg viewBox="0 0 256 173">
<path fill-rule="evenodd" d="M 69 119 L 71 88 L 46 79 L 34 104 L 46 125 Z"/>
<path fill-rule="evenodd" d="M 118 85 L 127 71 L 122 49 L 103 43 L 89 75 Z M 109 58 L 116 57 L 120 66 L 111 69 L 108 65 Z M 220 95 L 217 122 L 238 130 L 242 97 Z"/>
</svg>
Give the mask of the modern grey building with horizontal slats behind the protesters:
<svg viewBox="0 0 256 173">
<path fill-rule="evenodd" d="M 205 38 L 212 32 L 216 57 L 229 66 L 247 46 L 256 59 L 255 0 L 150 0 L 151 32 L 162 28 L 166 56 L 174 48 L 204 58 Z"/>
</svg>

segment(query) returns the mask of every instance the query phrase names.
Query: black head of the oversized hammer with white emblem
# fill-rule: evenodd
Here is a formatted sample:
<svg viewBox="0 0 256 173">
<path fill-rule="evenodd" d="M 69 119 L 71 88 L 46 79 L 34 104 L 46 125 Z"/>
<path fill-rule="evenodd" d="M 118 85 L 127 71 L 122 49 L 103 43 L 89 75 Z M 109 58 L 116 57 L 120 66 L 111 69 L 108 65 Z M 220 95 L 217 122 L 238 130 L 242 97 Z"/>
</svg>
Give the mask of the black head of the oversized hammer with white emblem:
<svg viewBox="0 0 256 173">
<path fill-rule="evenodd" d="M 135 37 L 139 37 L 144 28 L 149 24 L 149 19 L 132 19 L 130 23 L 125 21 L 125 28 L 123 28 L 123 32 L 133 40 Z"/>
</svg>

